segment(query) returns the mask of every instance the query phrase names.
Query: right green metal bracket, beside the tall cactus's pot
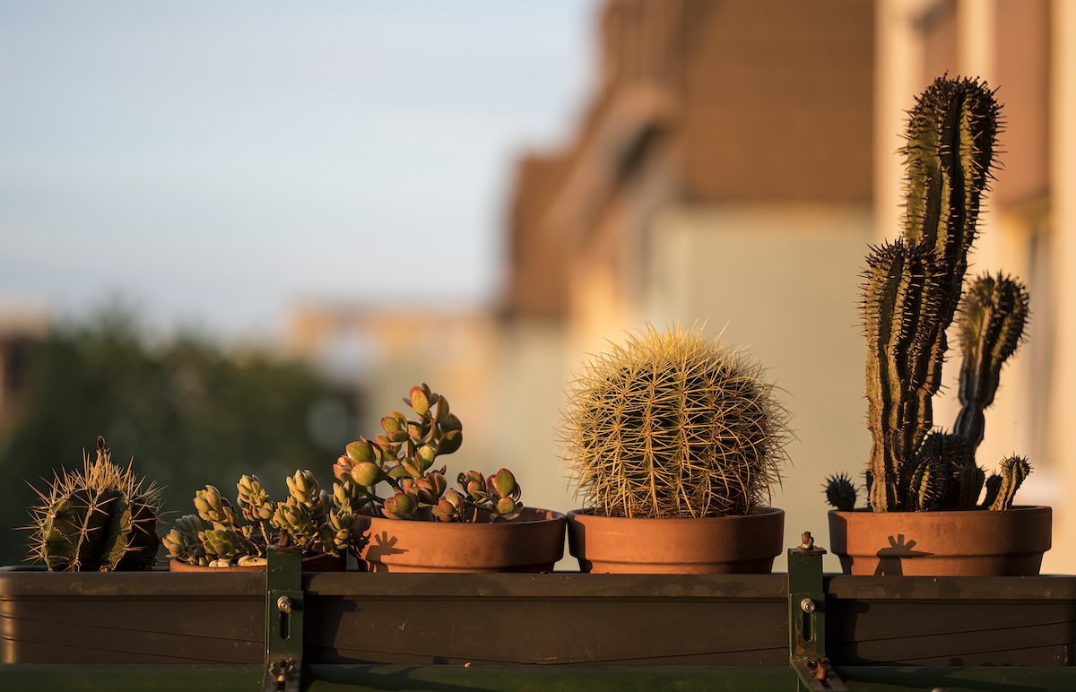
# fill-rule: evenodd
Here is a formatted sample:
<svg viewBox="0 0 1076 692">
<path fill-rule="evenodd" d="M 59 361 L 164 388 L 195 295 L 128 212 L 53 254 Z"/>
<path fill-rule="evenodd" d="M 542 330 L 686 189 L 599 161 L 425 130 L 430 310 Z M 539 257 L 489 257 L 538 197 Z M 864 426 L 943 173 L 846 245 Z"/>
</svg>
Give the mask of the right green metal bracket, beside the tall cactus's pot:
<svg viewBox="0 0 1076 692">
<path fill-rule="evenodd" d="M 789 662 L 798 676 L 797 689 L 845 691 L 825 658 L 824 554 L 809 532 L 801 546 L 789 549 Z"/>
</svg>

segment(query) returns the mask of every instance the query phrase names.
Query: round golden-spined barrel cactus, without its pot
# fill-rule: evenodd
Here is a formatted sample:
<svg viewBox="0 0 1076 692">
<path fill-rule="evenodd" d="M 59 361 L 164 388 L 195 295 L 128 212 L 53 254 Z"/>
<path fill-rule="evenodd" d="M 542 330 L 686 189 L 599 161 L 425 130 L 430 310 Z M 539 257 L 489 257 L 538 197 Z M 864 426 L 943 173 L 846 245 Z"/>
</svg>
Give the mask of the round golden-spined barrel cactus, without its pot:
<svg viewBox="0 0 1076 692">
<path fill-rule="evenodd" d="M 744 516 L 780 481 L 789 415 L 760 363 L 679 326 L 628 334 L 570 387 L 564 460 L 608 517 Z"/>
</svg>

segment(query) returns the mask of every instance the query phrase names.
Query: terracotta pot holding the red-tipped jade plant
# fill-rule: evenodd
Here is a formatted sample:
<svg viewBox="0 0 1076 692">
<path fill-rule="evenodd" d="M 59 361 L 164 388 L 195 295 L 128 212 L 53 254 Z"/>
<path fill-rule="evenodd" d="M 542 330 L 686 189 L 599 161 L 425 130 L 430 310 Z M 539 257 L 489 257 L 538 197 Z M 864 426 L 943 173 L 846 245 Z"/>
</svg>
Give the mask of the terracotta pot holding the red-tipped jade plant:
<svg viewBox="0 0 1076 692">
<path fill-rule="evenodd" d="M 564 555 L 560 512 L 526 508 L 511 521 L 402 521 L 359 514 L 359 568 L 369 571 L 550 571 Z"/>
</svg>

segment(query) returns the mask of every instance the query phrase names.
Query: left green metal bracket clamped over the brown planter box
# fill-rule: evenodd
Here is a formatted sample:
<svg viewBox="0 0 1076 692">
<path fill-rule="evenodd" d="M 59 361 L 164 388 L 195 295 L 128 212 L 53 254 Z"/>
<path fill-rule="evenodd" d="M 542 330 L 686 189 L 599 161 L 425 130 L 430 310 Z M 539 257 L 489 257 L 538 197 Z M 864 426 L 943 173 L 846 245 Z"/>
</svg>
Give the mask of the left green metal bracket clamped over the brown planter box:
<svg viewBox="0 0 1076 692">
<path fill-rule="evenodd" d="M 299 692 L 302 669 L 302 553 L 267 551 L 266 672 L 263 692 Z"/>
</svg>

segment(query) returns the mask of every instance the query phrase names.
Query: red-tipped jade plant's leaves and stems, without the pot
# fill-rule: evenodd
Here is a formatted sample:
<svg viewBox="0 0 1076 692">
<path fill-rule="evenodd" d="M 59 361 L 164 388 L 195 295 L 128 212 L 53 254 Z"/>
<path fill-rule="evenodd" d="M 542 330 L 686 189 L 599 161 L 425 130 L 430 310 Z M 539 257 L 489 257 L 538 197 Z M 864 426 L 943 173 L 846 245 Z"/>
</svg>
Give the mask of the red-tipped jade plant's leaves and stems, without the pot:
<svg viewBox="0 0 1076 692">
<path fill-rule="evenodd" d="M 425 383 L 412 386 L 404 403 L 412 413 L 390 411 L 372 440 L 348 444 L 332 466 L 336 478 L 369 503 L 376 516 L 441 522 L 500 521 L 523 512 L 520 486 L 507 468 L 483 476 L 476 470 L 456 477 L 448 488 L 448 467 L 435 468 L 440 456 L 463 443 L 463 425 L 449 400 Z M 379 486 L 386 489 L 384 497 Z"/>
</svg>

